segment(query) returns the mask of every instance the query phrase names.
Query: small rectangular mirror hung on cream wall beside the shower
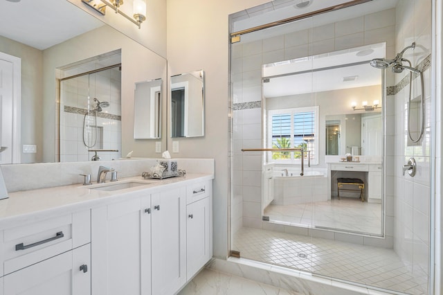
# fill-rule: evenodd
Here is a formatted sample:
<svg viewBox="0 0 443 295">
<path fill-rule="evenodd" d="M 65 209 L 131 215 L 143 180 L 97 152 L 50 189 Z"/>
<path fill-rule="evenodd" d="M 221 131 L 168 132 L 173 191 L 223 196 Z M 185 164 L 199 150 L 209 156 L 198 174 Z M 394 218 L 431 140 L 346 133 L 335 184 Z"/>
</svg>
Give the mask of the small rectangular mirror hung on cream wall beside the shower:
<svg viewBox="0 0 443 295">
<path fill-rule="evenodd" d="M 170 126 L 172 138 L 204 136 L 204 71 L 171 77 Z"/>
</svg>

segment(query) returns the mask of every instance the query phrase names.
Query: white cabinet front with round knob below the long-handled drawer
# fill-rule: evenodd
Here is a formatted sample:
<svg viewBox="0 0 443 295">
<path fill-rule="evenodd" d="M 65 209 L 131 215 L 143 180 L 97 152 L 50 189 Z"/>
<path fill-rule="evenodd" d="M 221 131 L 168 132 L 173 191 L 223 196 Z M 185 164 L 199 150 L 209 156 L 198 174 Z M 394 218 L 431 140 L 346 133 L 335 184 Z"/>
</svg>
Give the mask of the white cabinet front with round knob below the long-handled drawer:
<svg viewBox="0 0 443 295">
<path fill-rule="evenodd" d="M 87 244 L 8 274 L 3 277 L 4 294 L 91 294 L 90 253 Z"/>
</svg>

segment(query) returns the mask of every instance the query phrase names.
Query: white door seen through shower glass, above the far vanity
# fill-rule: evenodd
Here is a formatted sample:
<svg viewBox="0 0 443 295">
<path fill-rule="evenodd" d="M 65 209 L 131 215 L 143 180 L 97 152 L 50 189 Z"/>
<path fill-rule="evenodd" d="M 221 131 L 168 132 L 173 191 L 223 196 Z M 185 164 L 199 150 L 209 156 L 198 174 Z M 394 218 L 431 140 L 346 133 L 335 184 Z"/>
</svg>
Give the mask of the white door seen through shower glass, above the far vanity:
<svg viewBox="0 0 443 295">
<path fill-rule="evenodd" d="M 361 154 L 381 156 L 383 128 L 381 115 L 361 117 Z"/>
</svg>

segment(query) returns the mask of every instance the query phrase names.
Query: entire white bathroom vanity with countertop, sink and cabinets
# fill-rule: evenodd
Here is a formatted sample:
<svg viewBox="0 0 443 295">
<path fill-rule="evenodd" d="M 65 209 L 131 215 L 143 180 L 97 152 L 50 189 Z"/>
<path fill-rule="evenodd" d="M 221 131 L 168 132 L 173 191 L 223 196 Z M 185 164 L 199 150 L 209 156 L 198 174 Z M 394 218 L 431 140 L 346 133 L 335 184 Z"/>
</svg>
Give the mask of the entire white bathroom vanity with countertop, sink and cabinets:
<svg viewBox="0 0 443 295">
<path fill-rule="evenodd" d="M 212 257 L 213 178 L 9 193 L 0 201 L 0 294 L 179 292 Z"/>
</svg>

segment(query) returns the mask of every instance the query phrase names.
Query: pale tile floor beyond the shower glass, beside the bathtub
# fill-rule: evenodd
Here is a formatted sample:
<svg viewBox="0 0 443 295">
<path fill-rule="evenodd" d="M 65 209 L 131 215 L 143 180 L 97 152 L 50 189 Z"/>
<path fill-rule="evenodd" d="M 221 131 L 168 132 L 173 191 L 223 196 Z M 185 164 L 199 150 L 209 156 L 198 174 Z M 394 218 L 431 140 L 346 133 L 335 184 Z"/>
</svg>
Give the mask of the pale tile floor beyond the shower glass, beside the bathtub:
<svg viewBox="0 0 443 295">
<path fill-rule="evenodd" d="M 381 232 L 381 204 L 342 197 L 323 202 L 269 205 L 264 215 L 273 222 L 323 226 L 360 233 Z"/>
</svg>

